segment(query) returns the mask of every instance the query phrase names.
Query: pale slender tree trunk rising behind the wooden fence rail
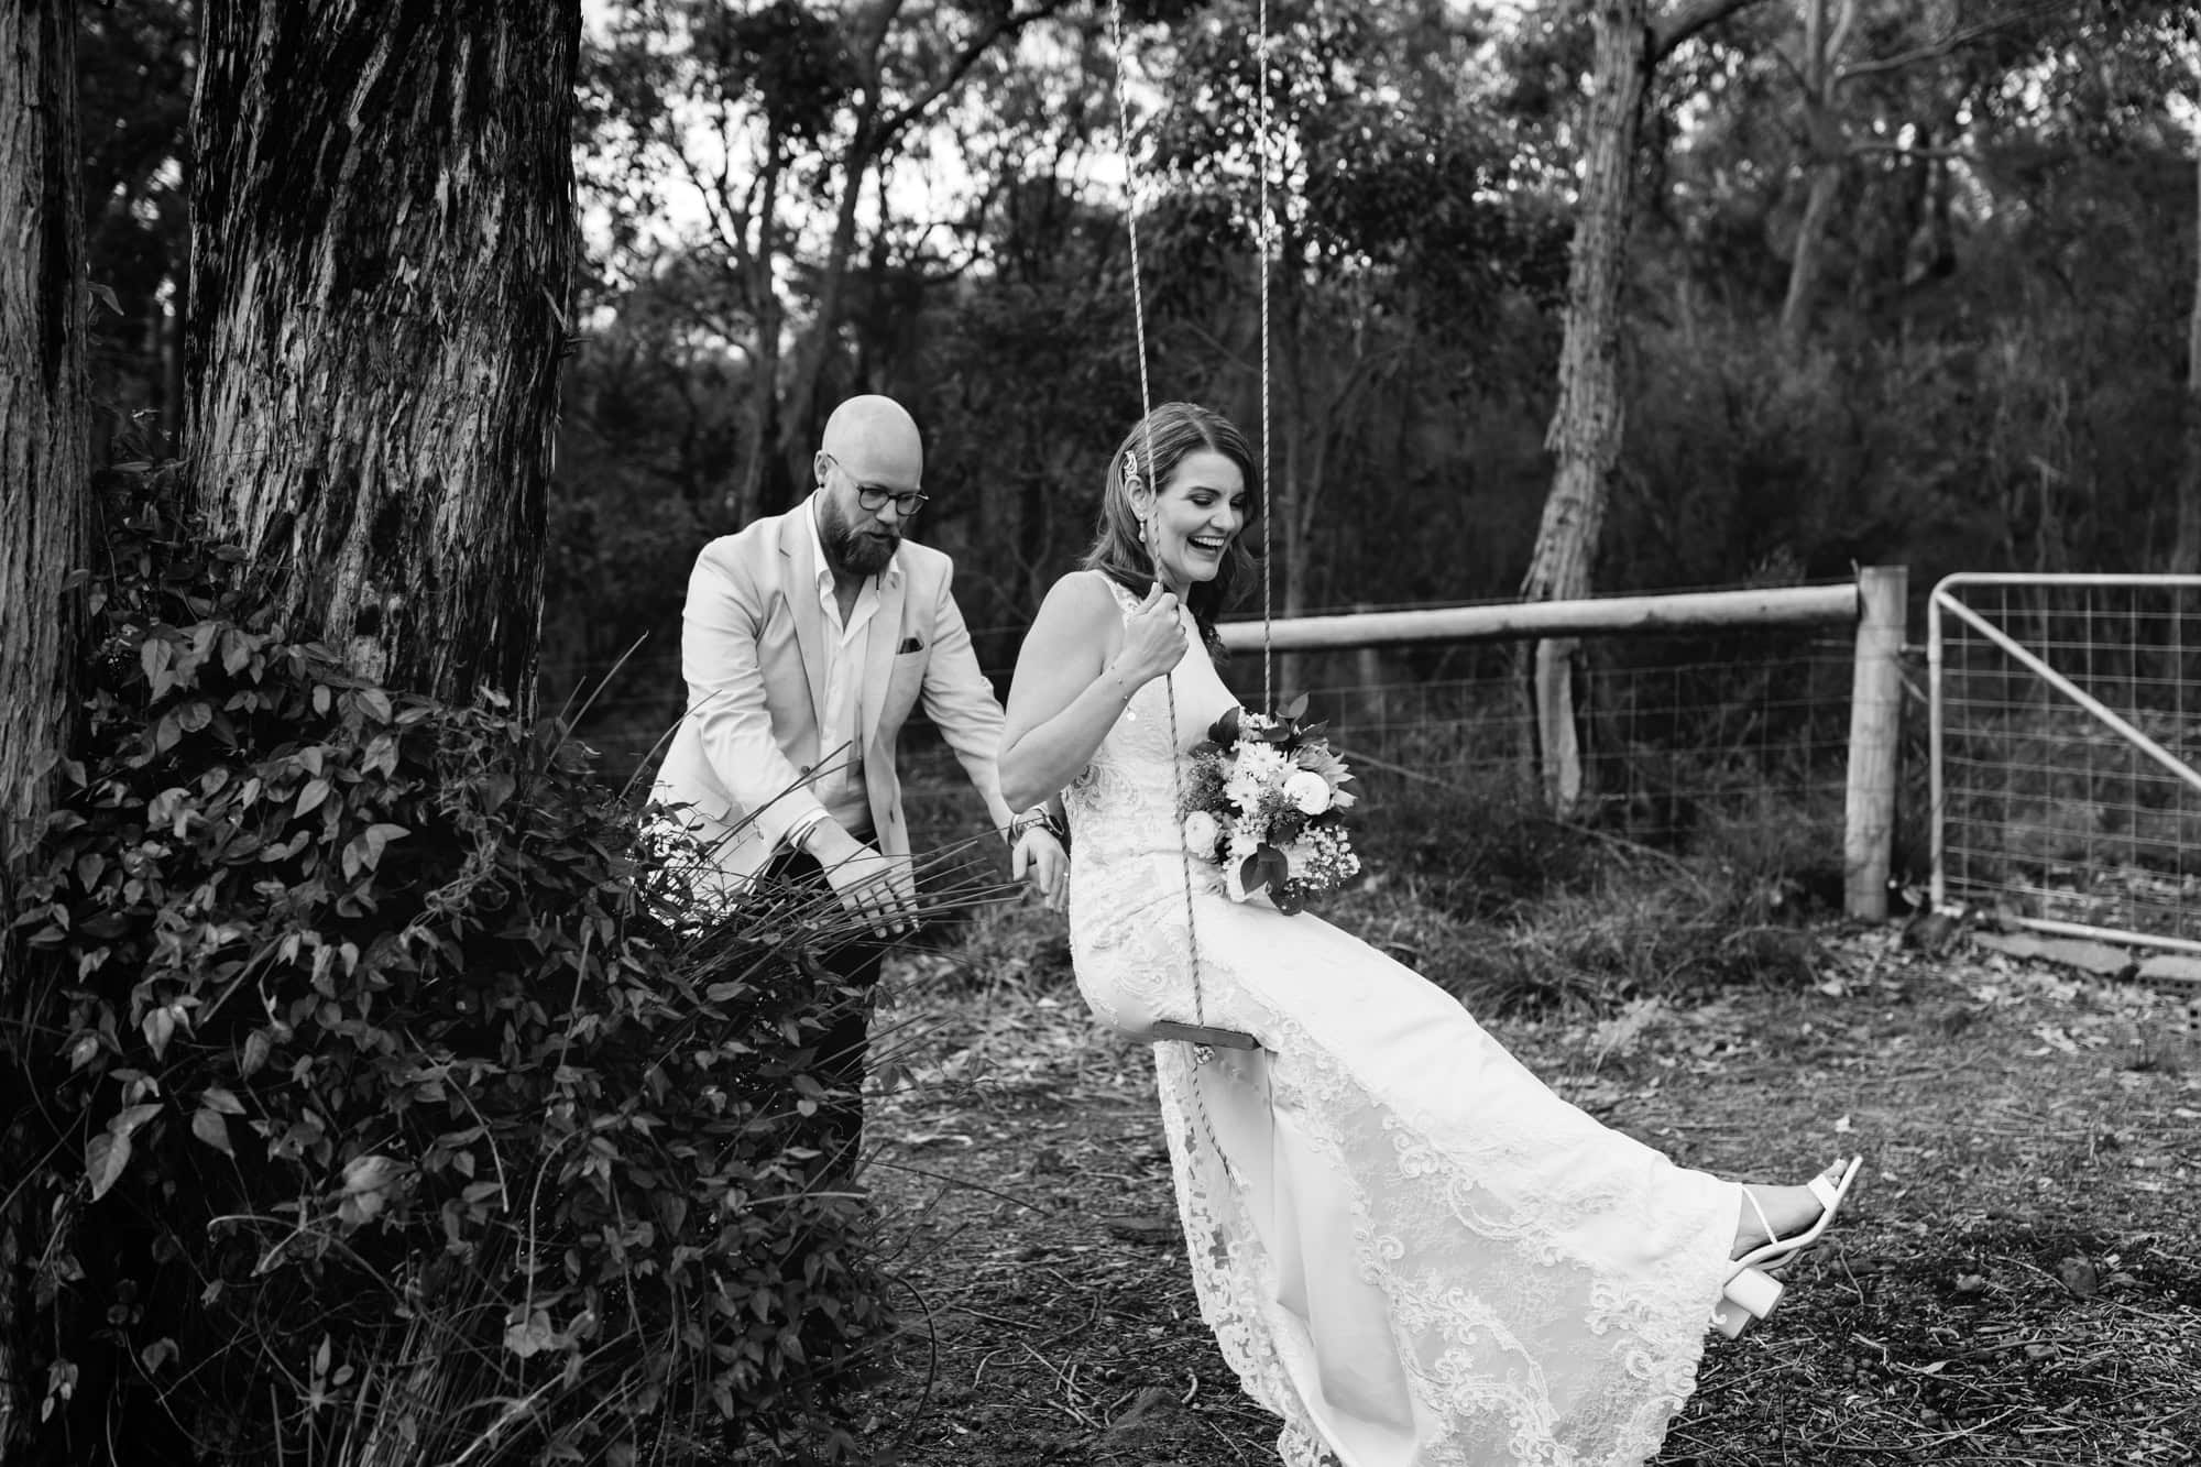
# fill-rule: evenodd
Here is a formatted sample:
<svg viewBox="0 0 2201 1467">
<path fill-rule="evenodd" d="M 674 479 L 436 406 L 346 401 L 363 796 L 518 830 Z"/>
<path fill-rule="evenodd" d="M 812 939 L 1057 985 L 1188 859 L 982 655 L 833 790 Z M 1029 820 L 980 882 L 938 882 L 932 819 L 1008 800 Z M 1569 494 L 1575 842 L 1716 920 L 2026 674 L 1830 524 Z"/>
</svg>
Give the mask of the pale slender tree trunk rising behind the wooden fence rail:
<svg viewBox="0 0 2201 1467">
<path fill-rule="evenodd" d="M 1567 269 L 1565 344 L 1558 405 L 1545 447 L 1558 458 L 1543 504 L 1523 599 L 1567 601 L 1589 595 L 1589 566 L 1605 524 L 1605 496 L 1620 460 L 1620 273 L 1627 264 L 1629 174 L 1642 134 L 1651 79 L 1644 0 L 1598 0 L 1596 73 L 1583 159 L 1583 196 Z M 1541 641 L 1527 670 L 1534 769 L 1545 802 L 1561 815 L 1583 800 L 1583 738 L 1576 711 L 1580 643 Z"/>
</svg>

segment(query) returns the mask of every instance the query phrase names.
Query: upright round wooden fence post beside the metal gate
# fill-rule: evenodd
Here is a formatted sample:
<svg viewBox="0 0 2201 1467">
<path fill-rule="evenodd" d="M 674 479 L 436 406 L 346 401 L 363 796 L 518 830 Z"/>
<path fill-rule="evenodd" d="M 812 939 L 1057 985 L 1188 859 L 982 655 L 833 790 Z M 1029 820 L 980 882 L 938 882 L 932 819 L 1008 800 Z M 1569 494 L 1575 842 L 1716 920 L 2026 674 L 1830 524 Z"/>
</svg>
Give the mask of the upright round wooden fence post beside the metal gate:
<svg viewBox="0 0 2201 1467">
<path fill-rule="evenodd" d="M 1895 839 L 1895 780 L 1904 720 L 1906 566 L 1858 573 L 1858 665 L 1849 689 L 1849 802 L 1842 826 L 1842 910 L 1888 916 L 1888 848 Z"/>
</svg>

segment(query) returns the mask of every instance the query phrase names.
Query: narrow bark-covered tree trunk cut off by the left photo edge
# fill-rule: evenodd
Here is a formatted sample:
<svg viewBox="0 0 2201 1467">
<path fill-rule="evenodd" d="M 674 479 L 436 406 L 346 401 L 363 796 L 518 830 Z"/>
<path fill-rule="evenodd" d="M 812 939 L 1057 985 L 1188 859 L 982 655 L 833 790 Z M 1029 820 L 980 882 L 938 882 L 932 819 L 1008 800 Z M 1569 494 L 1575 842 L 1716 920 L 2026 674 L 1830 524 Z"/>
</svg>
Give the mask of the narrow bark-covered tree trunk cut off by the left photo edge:
<svg viewBox="0 0 2201 1467">
<path fill-rule="evenodd" d="M 0 0 L 0 850 L 46 813 L 84 564 L 86 275 L 70 0 Z M 0 954 L 0 965 L 7 958 Z"/>
</svg>

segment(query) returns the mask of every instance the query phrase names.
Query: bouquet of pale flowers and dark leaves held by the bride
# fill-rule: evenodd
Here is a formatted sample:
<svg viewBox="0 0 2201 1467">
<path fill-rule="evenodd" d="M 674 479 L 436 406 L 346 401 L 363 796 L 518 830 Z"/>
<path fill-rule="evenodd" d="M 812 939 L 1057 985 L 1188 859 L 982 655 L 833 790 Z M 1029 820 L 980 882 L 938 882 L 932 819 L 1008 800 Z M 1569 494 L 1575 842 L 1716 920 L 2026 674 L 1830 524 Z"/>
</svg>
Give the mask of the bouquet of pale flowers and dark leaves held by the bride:
<svg viewBox="0 0 2201 1467">
<path fill-rule="evenodd" d="M 1323 738 L 1301 722 L 1307 698 L 1274 716 L 1230 709 L 1193 745 L 1184 780 L 1184 848 L 1224 868 L 1224 890 L 1246 901 L 1268 890 L 1279 912 L 1299 912 L 1360 870 L 1345 835 L 1354 775 Z"/>
</svg>

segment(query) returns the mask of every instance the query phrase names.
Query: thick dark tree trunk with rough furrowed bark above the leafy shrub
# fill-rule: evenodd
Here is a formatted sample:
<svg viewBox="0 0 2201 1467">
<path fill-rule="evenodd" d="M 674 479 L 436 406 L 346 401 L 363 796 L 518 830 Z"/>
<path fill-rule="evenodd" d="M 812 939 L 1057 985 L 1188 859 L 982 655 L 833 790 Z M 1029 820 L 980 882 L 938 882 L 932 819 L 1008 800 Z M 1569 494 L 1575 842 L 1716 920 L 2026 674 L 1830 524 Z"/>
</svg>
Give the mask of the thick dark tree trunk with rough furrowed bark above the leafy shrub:
<svg viewBox="0 0 2201 1467">
<path fill-rule="evenodd" d="M 533 698 L 579 0 L 211 0 L 187 469 L 293 632 Z"/>
</svg>

